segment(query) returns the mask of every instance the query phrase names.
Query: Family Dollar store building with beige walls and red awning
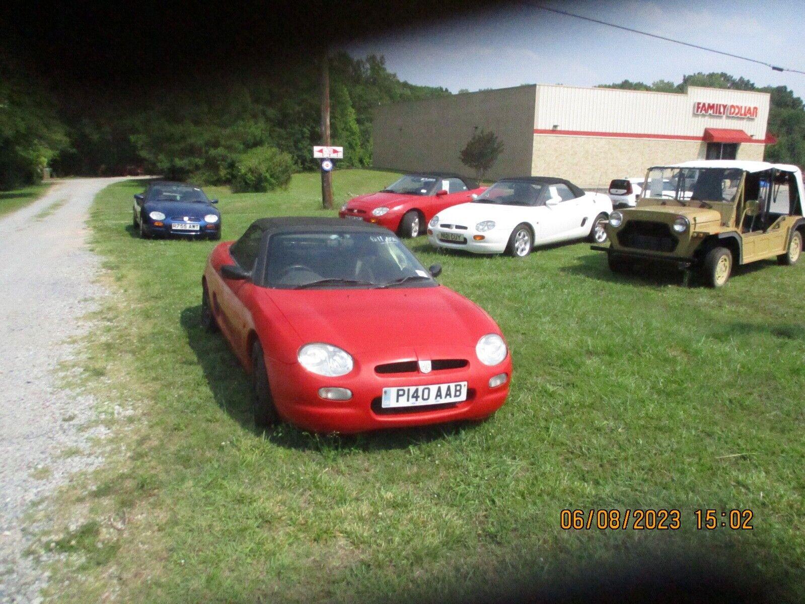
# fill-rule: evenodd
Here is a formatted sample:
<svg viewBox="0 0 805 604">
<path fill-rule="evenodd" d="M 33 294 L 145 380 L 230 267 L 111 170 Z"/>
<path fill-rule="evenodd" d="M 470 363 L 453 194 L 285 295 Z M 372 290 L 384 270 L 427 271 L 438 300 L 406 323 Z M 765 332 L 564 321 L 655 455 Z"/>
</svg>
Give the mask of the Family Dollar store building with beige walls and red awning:
<svg viewBox="0 0 805 604">
<path fill-rule="evenodd" d="M 503 143 L 487 178 L 561 176 L 585 188 L 689 159 L 763 159 L 769 94 L 528 85 L 383 105 L 374 166 L 472 175 L 460 160 L 477 130 Z"/>
</svg>

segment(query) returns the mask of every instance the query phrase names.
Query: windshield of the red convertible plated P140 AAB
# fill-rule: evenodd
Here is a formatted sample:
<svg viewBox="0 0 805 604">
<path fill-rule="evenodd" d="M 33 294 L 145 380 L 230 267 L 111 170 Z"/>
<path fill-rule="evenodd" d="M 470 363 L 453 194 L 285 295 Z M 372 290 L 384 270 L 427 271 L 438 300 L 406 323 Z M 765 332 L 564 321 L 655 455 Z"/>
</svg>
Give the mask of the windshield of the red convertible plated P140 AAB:
<svg viewBox="0 0 805 604">
<path fill-rule="evenodd" d="M 280 289 L 437 285 L 394 234 L 332 230 L 272 235 L 266 283 Z"/>
</svg>

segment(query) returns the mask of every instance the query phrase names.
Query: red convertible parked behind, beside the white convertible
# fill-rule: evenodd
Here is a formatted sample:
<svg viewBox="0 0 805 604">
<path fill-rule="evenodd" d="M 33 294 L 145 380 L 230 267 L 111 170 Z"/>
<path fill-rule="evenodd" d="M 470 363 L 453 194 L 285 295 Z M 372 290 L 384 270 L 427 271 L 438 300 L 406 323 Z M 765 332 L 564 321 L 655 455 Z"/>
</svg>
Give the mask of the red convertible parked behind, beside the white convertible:
<svg viewBox="0 0 805 604">
<path fill-rule="evenodd" d="M 416 237 L 437 213 L 473 201 L 485 190 L 457 174 L 407 174 L 380 192 L 349 200 L 338 216 L 385 226 L 400 237 Z"/>
</svg>

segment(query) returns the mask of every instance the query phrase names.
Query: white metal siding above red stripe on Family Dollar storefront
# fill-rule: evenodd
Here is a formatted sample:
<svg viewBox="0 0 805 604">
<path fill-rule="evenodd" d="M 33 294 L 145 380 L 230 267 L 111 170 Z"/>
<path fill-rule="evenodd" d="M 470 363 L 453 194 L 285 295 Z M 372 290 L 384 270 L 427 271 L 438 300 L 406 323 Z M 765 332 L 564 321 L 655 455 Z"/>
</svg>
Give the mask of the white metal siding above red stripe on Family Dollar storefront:
<svg viewBox="0 0 805 604">
<path fill-rule="evenodd" d="M 755 139 L 766 138 L 769 94 L 691 86 L 687 94 L 634 90 L 538 85 L 535 128 L 701 136 L 705 128 L 744 130 Z M 694 115 L 696 101 L 753 105 L 755 119 Z"/>
</svg>

